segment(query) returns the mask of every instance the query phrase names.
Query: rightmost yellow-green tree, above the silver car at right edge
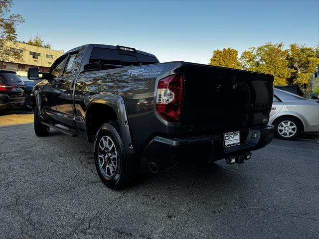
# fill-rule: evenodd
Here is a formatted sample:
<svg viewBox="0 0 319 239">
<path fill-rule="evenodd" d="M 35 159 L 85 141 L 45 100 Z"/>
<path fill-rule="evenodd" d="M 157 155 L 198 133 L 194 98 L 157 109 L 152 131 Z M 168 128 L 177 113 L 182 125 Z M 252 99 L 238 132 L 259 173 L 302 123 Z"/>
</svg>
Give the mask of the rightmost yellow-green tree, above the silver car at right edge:
<svg viewBox="0 0 319 239">
<path fill-rule="evenodd" d="M 288 56 L 290 68 L 293 70 L 289 83 L 304 86 L 308 83 L 309 76 L 316 70 L 319 65 L 319 57 L 315 49 L 305 45 L 290 45 L 290 54 Z"/>
</svg>

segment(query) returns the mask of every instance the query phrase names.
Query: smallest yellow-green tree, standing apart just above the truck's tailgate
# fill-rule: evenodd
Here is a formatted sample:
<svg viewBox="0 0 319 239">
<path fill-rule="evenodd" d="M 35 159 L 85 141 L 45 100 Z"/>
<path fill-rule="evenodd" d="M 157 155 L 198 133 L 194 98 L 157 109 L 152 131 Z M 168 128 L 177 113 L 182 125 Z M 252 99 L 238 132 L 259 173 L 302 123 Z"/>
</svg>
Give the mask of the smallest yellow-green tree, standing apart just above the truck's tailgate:
<svg viewBox="0 0 319 239">
<path fill-rule="evenodd" d="M 214 50 L 209 65 L 240 69 L 241 65 L 238 61 L 238 51 L 232 48 Z"/>
</svg>

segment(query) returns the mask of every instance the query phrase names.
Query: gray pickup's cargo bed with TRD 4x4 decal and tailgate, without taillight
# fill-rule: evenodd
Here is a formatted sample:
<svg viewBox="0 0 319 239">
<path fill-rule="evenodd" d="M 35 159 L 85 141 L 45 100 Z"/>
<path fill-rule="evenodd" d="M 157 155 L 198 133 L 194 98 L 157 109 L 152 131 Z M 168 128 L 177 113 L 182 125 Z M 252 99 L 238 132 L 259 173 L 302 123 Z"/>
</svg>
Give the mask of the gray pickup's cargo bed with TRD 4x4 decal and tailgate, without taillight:
<svg viewBox="0 0 319 239">
<path fill-rule="evenodd" d="M 140 74 L 147 69 L 158 69 L 158 74 Z M 165 123 L 156 112 L 157 84 L 172 74 L 183 76 L 181 119 Z M 182 61 L 88 71 L 80 74 L 75 86 L 76 116 L 81 118 L 76 125 L 85 122 L 85 102 L 103 92 L 124 98 L 138 151 L 154 135 L 213 134 L 266 125 L 273 80 L 272 75 Z"/>
</svg>

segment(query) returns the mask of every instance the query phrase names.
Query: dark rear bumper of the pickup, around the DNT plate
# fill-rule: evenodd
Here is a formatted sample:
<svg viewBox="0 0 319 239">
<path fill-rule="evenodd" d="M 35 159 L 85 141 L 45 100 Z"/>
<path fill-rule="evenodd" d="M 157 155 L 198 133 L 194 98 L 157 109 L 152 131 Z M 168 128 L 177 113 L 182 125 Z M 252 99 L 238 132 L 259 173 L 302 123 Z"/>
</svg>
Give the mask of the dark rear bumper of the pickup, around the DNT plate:
<svg viewBox="0 0 319 239">
<path fill-rule="evenodd" d="M 274 127 L 261 126 L 242 130 L 240 145 L 225 148 L 223 134 L 160 137 L 156 136 L 144 151 L 144 158 L 160 165 L 172 166 L 193 162 L 209 162 L 265 147 L 274 137 Z M 252 138 L 252 134 L 257 137 Z"/>
</svg>

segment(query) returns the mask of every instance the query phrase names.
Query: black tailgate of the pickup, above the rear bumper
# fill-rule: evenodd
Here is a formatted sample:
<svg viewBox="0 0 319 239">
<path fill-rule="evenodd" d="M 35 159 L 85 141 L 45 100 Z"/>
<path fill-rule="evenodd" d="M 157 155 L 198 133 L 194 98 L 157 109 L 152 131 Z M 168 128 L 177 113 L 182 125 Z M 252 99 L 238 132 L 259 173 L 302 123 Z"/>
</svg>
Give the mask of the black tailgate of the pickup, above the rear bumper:
<svg viewBox="0 0 319 239">
<path fill-rule="evenodd" d="M 232 131 L 267 124 L 272 75 L 185 63 L 184 131 Z"/>
</svg>

